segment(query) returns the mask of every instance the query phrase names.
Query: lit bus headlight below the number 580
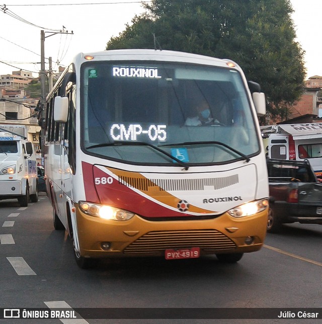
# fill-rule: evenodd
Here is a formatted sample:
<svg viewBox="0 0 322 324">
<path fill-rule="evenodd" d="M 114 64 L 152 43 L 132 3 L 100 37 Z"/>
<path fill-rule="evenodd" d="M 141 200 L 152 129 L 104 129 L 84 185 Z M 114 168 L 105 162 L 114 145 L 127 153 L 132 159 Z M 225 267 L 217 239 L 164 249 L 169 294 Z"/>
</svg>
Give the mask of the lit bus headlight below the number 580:
<svg viewBox="0 0 322 324">
<path fill-rule="evenodd" d="M 106 205 L 93 204 L 87 201 L 80 201 L 79 206 L 88 215 L 112 220 L 129 220 L 134 216 L 127 210 Z"/>
</svg>

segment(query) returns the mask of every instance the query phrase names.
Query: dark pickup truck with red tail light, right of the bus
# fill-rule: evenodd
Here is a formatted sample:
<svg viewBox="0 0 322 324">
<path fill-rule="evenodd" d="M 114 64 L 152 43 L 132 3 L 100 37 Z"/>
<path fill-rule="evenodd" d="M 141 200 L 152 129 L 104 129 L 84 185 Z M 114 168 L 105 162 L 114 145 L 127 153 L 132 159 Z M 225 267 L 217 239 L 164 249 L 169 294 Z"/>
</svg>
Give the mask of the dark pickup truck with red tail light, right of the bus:
<svg viewBox="0 0 322 324">
<path fill-rule="evenodd" d="M 322 183 L 307 159 L 267 159 L 270 208 L 267 231 L 283 223 L 322 224 Z"/>
</svg>

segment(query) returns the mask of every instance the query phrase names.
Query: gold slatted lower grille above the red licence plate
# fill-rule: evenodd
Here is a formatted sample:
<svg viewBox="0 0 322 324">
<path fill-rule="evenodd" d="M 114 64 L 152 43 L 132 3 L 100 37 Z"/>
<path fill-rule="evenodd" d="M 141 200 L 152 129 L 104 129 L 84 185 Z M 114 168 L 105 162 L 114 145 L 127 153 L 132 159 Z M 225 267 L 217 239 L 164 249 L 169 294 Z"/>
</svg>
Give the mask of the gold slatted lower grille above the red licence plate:
<svg viewBox="0 0 322 324">
<path fill-rule="evenodd" d="M 198 247 L 205 252 L 232 250 L 234 242 L 214 229 L 148 232 L 132 242 L 124 254 L 157 254 L 166 249 Z"/>
</svg>

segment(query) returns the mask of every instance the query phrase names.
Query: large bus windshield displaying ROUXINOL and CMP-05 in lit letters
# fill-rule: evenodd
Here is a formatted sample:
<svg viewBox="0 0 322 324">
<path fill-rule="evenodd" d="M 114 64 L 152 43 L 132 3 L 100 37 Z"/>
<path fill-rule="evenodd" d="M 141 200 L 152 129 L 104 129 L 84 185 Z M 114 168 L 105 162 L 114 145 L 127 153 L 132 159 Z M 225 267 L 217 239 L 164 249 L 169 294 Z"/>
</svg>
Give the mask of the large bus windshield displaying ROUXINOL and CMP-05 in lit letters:
<svg viewBox="0 0 322 324">
<path fill-rule="evenodd" d="M 81 91 L 81 145 L 88 154 L 131 164 L 180 160 L 207 165 L 259 152 L 250 103 L 236 70 L 87 62 Z"/>
</svg>

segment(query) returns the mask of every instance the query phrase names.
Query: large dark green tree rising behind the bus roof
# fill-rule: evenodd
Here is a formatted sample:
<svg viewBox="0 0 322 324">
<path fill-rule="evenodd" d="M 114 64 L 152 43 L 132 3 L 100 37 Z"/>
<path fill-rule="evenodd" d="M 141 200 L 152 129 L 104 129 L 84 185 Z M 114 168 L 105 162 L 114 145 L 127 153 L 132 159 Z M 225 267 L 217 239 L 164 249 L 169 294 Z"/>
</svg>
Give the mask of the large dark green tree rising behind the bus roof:
<svg viewBox="0 0 322 324">
<path fill-rule="evenodd" d="M 290 0 L 152 0 L 106 49 L 154 48 L 234 60 L 261 84 L 268 114 L 282 116 L 303 93 L 304 51 Z"/>
</svg>

